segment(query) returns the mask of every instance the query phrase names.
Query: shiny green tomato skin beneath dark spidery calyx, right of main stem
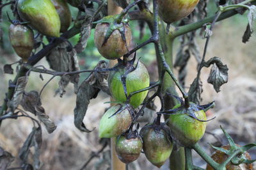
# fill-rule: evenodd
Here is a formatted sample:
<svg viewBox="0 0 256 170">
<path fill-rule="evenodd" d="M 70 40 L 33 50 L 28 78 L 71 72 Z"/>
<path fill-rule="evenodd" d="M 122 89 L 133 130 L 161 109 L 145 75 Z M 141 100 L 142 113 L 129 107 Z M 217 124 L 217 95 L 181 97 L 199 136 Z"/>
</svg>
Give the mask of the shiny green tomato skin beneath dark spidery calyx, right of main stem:
<svg viewBox="0 0 256 170">
<path fill-rule="evenodd" d="M 180 104 L 175 105 L 173 109 L 180 107 Z M 206 120 L 206 115 L 203 110 L 195 112 L 196 118 Z M 190 147 L 196 144 L 204 135 L 206 123 L 195 120 L 188 114 L 171 114 L 168 125 L 171 129 L 172 138 L 181 146 Z"/>
</svg>

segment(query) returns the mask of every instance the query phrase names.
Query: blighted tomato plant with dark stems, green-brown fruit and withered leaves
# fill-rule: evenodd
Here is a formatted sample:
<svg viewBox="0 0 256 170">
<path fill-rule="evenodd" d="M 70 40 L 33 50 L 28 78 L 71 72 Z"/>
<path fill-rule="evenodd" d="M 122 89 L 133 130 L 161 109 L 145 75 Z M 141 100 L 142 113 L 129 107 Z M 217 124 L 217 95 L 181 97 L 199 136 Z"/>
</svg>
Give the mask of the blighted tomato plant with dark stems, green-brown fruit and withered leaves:
<svg viewBox="0 0 256 170">
<path fill-rule="evenodd" d="M 76 11 L 70 12 L 67 3 Z M 111 147 L 113 156 L 116 152 L 125 164 L 137 160 L 142 152 L 156 167 L 163 166 L 170 158 L 170 162 L 174 160 L 175 163 L 170 164 L 170 169 L 202 169 L 193 163 L 191 150 L 195 150 L 208 164 L 207 169 L 236 169 L 239 164 L 251 166 L 255 160 L 246 157 L 246 151 L 256 144 L 237 146 L 223 128 L 221 129 L 229 146 L 218 148 L 211 145 L 216 150 L 212 157 L 207 155 L 198 142 L 205 133 L 205 121 L 211 123 L 211 119 L 207 120 L 205 111 L 214 106 L 214 102 L 200 105 L 202 68 L 212 66 L 207 82 L 212 84 L 216 92 L 220 92 L 221 86 L 228 81 L 228 67 L 220 58 L 205 60 L 214 26 L 219 20 L 232 17 L 237 12 L 243 14 L 248 10 L 248 26 L 242 38 L 244 43 L 248 42 L 253 33 L 253 19 L 256 18 L 254 4 L 255 0 L 216 1 L 215 14 L 207 17 L 207 1 L 198 0 L 109 0 L 108 3 L 105 0 L 0 1 L 0 14 L 2 8 L 10 7 L 12 10 L 15 20 L 9 17 L 12 22 L 9 31 L 10 43 L 22 58 L 22 61 L 4 65 L 4 73 L 13 73 L 12 65 L 17 65 L 17 72 L 15 79 L 9 82 L 8 92 L 0 107 L 0 125 L 2 121 L 13 118 L 28 118 L 33 121 L 31 134 L 19 152 L 18 169 L 42 167 L 42 125 L 44 124 L 47 132 L 51 134 L 56 130 L 56 124 L 46 114 L 40 98 L 49 82 L 56 77 L 60 77 L 57 90 L 60 97 L 69 90 L 69 82 L 74 84 L 74 126 L 81 132 L 90 133 L 94 130 L 89 130 L 84 124 L 90 100 L 97 98 L 100 91 L 114 98 L 110 102 L 111 107 L 102 116 L 100 114 L 99 126 L 96 127 L 99 129 L 99 138 L 102 138 L 100 141 L 106 142 L 97 153 L 92 153 L 81 169 L 85 169 L 94 157 L 104 151 L 109 143 L 106 138 L 113 138 L 112 141 L 116 142 L 116 145 Z M 111 8 L 121 9 L 120 13 L 112 15 L 115 12 Z M 136 30 L 131 30 L 131 20 L 136 23 L 138 21 L 141 37 L 145 27 L 150 30 L 151 36 L 145 42 L 137 44 L 134 41 L 136 39 L 132 37 L 132 32 Z M 165 31 L 164 27 L 170 31 Z M 91 35 L 92 29 L 94 37 Z M 206 41 L 202 56 L 195 43 L 197 29 L 205 31 Z M 79 40 L 70 41 L 70 38 L 76 35 Z M 173 65 L 173 43 L 180 36 L 180 48 Z M 90 37 L 94 39 L 95 47 L 105 60 L 99 61 L 92 70 L 81 70 L 79 57 L 81 52 L 86 50 Z M 156 53 L 157 81 L 150 80 L 145 66 L 147 63 L 136 57 L 136 52 L 150 43 L 154 45 Z M 191 55 L 197 57 L 198 66 L 196 77 L 187 89 L 184 80 Z M 140 57 L 145 56 L 147 54 Z M 43 58 L 47 59 L 49 67 L 45 63 L 38 65 Z M 173 73 L 173 66 L 180 67 L 179 79 Z M 28 91 L 27 84 L 31 79 L 31 72 L 39 73 L 42 80 L 43 74 L 52 77 L 40 91 Z M 82 73 L 87 73 L 86 78 L 80 76 Z M 178 91 L 180 93 L 177 93 Z M 154 103 L 157 97 L 159 107 Z M 180 104 L 177 104 L 179 102 Z M 152 112 L 156 115 L 154 121 L 141 123 L 140 118 L 145 118 Z M 143 124 L 141 129 L 140 124 Z M 134 127 L 137 127 L 136 130 L 133 130 Z M 33 152 L 30 152 L 31 147 L 35 148 Z M 0 149 L 0 153 L 8 155 Z M 28 155 L 31 154 L 33 158 L 30 159 Z M 12 157 L 10 154 L 8 157 L 4 165 L 1 165 L 0 161 L 0 167 L 10 166 Z M 220 160 L 221 157 L 225 159 Z M 124 167 L 124 164 L 117 163 L 115 158 L 113 162 L 115 170 L 118 169 L 114 168 L 118 167 L 117 164 Z"/>
</svg>

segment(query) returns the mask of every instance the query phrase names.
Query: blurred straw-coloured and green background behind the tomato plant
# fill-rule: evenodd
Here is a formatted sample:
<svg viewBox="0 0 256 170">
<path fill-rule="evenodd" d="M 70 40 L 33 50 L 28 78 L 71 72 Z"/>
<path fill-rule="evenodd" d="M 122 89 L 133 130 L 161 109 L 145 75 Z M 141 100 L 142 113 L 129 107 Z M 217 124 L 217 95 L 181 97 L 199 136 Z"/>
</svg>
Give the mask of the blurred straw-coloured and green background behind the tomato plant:
<svg viewBox="0 0 256 170">
<path fill-rule="evenodd" d="M 208 7 L 209 16 L 211 16 L 216 12 L 216 8 L 212 3 L 209 3 Z M 76 16 L 77 9 L 71 6 L 70 8 L 74 14 L 73 16 Z M 13 51 L 8 40 L 10 22 L 7 21 L 6 12 L 12 13 L 8 11 L 8 8 L 3 10 L 3 21 L 1 22 L 3 42 L 1 43 L 0 49 L 0 105 L 8 89 L 8 81 L 15 77 L 15 75 L 4 74 L 3 66 L 19 60 L 19 57 Z M 207 143 L 217 144 L 221 142 L 227 144 L 221 132 L 220 125 L 234 137 L 234 141 L 237 144 L 243 145 L 256 142 L 256 54 L 254 49 L 256 35 L 252 35 L 250 42 L 246 44 L 242 43 L 242 36 L 247 23 L 246 13 L 218 22 L 209 43 L 206 60 L 217 56 L 229 68 L 228 83 L 221 86 L 220 93 L 216 93 L 212 85 L 207 84 L 207 78 L 211 68 L 204 68 L 201 74 L 204 89 L 201 104 L 207 104 L 213 100 L 216 101 L 216 107 L 207 112 L 209 118 L 216 116 L 216 119 L 207 123 L 207 133 L 205 133 L 203 139 L 200 141 L 200 144 L 209 154 L 212 153 L 212 150 Z M 140 39 L 138 22 L 131 21 L 130 25 L 132 27 L 134 43 L 144 42 L 150 37 L 150 31 L 147 29 L 147 26 L 143 38 Z M 83 53 L 79 54 L 79 65 L 81 69 L 92 69 L 100 60 L 104 59 L 95 48 L 93 31 L 86 49 Z M 79 35 L 71 38 L 70 42 L 75 45 L 78 40 Z M 44 41 L 47 43 L 46 40 Z M 205 38 L 198 36 L 196 41 L 200 47 L 200 54 L 203 54 Z M 174 56 L 177 54 L 178 47 L 179 38 L 175 41 Z M 143 47 L 143 49 L 138 50 L 137 56 L 141 57 L 143 63 L 147 65 L 152 79 L 156 79 L 154 46 L 147 45 Z M 49 68 L 45 59 L 42 59 L 38 65 L 44 65 Z M 13 68 L 15 68 L 15 65 L 13 65 Z M 195 58 L 189 60 L 188 70 L 186 86 L 189 86 L 196 76 Z M 174 71 L 177 75 L 177 70 Z M 87 76 L 88 74 L 86 73 L 81 74 L 81 81 Z M 43 77 L 44 81 L 40 79 L 38 73 L 31 73 L 26 91 L 40 91 L 45 82 L 51 78 L 48 75 L 43 75 Z M 73 86 L 68 86 L 67 93 L 62 98 L 58 95 L 55 96 L 59 80 L 59 77 L 57 77 L 51 81 L 42 93 L 42 105 L 51 120 L 56 123 L 57 128 L 52 134 L 48 134 L 44 125 L 42 125 L 41 169 L 79 169 L 90 158 L 92 151 L 97 152 L 101 148 L 98 137 L 98 125 L 105 109 L 109 107 L 109 104 L 104 104 L 104 102 L 109 101 L 109 97 L 104 93 L 100 93 L 96 99 L 91 100 L 84 118 L 84 123 L 89 129 L 95 127 L 95 130 L 90 134 L 80 132 L 73 123 L 74 107 L 76 105 L 76 95 L 73 93 Z M 155 102 L 157 107 L 160 107 L 159 101 L 156 100 Z M 3 121 L 0 128 L 0 146 L 4 150 L 12 153 L 14 157 L 17 157 L 11 167 L 19 166 L 19 150 L 32 128 L 33 123 L 26 118 Z M 215 134 L 217 137 L 214 137 L 212 134 Z M 33 153 L 33 150 L 31 152 Z M 256 158 L 256 150 L 250 150 L 250 153 L 252 158 Z M 31 155 L 29 155 L 29 158 L 32 161 Z M 195 156 L 194 163 L 197 166 L 205 167 L 205 162 L 196 153 L 193 153 L 193 155 Z M 109 147 L 107 147 L 100 157 L 93 158 L 86 169 L 108 169 L 110 164 L 109 157 Z M 161 169 L 166 169 L 167 167 L 168 162 Z M 138 160 L 129 165 L 129 169 L 157 168 L 145 159 L 145 155 L 141 154 Z"/>
</svg>

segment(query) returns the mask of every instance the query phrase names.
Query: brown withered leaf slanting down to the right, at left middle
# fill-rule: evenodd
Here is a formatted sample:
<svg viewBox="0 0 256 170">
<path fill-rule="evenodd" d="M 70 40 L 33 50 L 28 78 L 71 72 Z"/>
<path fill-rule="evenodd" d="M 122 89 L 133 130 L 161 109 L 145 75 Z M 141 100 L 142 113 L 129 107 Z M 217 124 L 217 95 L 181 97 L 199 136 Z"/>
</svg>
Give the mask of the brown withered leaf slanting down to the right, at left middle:
<svg viewBox="0 0 256 170">
<path fill-rule="evenodd" d="M 49 134 L 51 134 L 55 129 L 56 125 L 49 119 L 49 116 L 45 114 L 44 107 L 42 107 L 42 103 L 40 98 L 38 98 L 37 91 L 30 91 L 29 93 L 24 93 L 21 105 L 25 111 L 29 111 L 35 114 L 40 121 L 42 121 L 45 125 L 45 128 Z"/>
</svg>

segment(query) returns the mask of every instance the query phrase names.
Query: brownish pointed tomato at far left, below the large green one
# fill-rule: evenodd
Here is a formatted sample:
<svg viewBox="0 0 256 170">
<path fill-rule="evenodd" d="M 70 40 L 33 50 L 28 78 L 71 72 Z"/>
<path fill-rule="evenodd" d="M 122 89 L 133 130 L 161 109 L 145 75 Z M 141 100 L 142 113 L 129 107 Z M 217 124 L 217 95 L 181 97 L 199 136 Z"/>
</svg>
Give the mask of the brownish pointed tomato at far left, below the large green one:
<svg viewBox="0 0 256 170">
<path fill-rule="evenodd" d="M 9 27 L 9 39 L 15 52 L 23 61 L 28 61 L 34 46 L 33 31 L 24 25 L 13 25 Z"/>
</svg>

